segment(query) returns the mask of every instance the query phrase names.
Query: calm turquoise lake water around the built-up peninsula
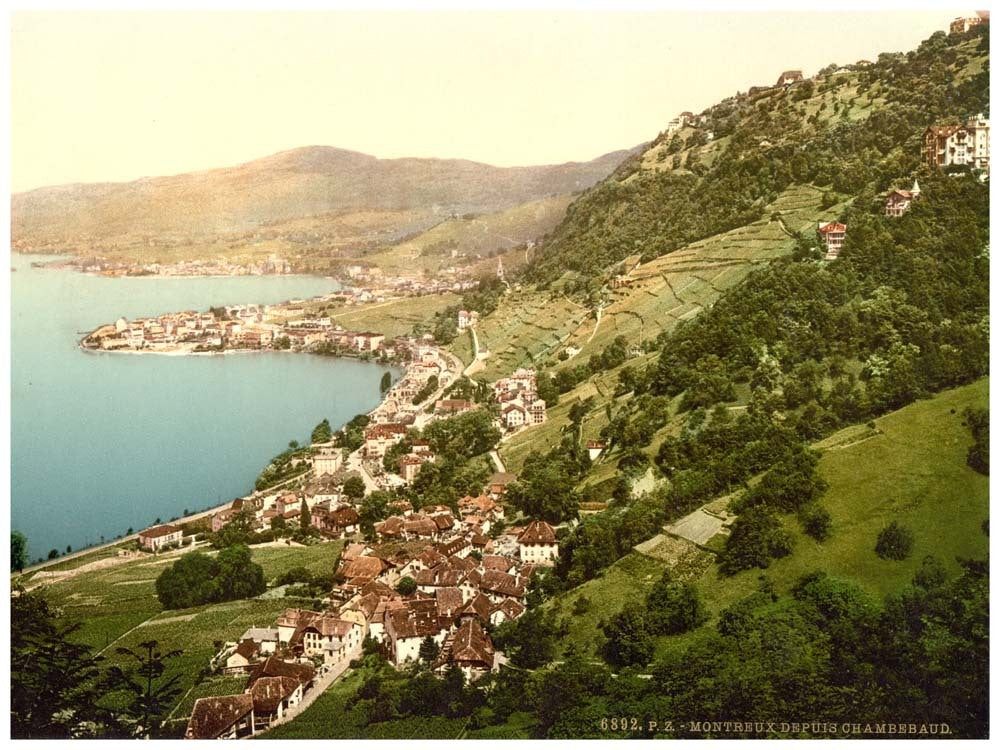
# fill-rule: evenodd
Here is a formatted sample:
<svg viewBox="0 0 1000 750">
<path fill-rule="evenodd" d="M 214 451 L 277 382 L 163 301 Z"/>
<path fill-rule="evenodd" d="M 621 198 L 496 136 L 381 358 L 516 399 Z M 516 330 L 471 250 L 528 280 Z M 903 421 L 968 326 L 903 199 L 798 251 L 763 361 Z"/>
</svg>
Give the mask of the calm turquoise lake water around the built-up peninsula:
<svg viewBox="0 0 1000 750">
<path fill-rule="evenodd" d="M 11 274 L 11 528 L 32 559 L 238 497 L 290 440 L 379 400 L 389 368 L 303 354 L 88 353 L 119 315 L 274 303 L 338 288 L 310 276 L 124 278 Z"/>
</svg>

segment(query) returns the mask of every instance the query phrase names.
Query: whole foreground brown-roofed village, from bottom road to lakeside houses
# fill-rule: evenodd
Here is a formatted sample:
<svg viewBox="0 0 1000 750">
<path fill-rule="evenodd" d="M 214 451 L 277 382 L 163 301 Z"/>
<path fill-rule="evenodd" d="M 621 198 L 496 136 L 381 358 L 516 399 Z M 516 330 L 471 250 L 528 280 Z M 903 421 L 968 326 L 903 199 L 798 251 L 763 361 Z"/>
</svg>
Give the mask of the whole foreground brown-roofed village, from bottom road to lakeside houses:
<svg viewBox="0 0 1000 750">
<path fill-rule="evenodd" d="M 524 373 L 516 379 L 527 380 Z M 357 452 L 363 462 L 402 439 L 403 432 L 385 426 L 365 432 Z M 407 461 L 409 456 L 415 460 Z M 399 480 L 412 479 L 432 460 L 429 446 L 415 442 L 400 461 Z M 459 500 L 457 513 L 448 506 L 414 509 L 409 501 L 396 501 L 392 515 L 363 541 L 358 500 L 342 491 L 350 476 L 357 474 L 346 470 L 342 449 L 318 446 L 301 490 L 254 493 L 212 516 L 213 532 L 238 518 L 259 529 L 308 518 L 323 541 L 343 540 L 344 546 L 336 562 L 331 553 L 337 583 L 321 611 L 290 608 L 273 623 L 234 633 L 223 645 L 210 668 L 246 674 L 246 690 L 199 699 L 187 737 L 249 736 L 288 720 L 365 647 L 399 667 L 419 660 L 436 672 L 454 666 L 469 681 L 504 663 L 490 629 L 521 616 L 533 575 L 559 554 L 556 530 L 548 523 L 506 525 L 504 495 L 517 477 L 494 473 L 481 494 Z M 149 552 L 194 541 L 171 524 L 139 534 L 140 547 Z"/>
</svg>

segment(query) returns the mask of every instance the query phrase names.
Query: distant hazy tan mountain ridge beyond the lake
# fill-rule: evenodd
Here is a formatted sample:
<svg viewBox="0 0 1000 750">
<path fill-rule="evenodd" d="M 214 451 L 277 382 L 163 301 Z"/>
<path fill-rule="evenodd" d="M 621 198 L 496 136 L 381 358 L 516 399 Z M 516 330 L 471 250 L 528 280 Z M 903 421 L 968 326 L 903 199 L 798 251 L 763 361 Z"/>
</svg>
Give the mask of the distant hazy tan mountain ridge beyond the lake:
<svg viewBox="0 0 1000 750">
<path fill-rule="evenodd" d="M 626 155 L 502 168 L 310 146 L 224 169 L 18 193 L 11 197 L 12 245 L 160 262 L 357 252 L 452 214 L 581 191 Z"/>
</svg>

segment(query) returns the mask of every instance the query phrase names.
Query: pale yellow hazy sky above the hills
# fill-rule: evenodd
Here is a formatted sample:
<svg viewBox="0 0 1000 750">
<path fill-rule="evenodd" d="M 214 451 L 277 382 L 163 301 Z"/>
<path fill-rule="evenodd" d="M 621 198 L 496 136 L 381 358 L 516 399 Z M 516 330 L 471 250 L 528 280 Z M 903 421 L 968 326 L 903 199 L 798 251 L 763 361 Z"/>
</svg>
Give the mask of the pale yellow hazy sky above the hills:
<svg viewBox="0 0 1000 750">
<path fill-rule="evenodd" d="M 11 189 L 313 144 L 504 166 L 587 160 L 782 70 L 910 49 L 955 15 L 17 13 Z"/>
</svg>

